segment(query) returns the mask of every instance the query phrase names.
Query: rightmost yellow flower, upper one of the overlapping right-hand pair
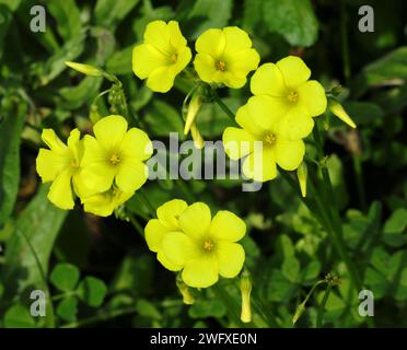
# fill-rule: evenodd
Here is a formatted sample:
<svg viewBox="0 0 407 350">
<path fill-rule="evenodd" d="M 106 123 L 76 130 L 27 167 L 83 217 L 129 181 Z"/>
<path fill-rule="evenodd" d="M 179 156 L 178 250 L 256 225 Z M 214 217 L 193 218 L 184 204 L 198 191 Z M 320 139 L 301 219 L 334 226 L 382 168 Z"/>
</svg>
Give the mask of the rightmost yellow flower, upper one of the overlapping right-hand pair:
<svg viewBox="0 0 407 350">
<path fill-rule="evenodd" d="M 289 56 L 276 65 L 260 66 L 251 80 L 252 93 L 270 98 L 270 108 L 282 119 L 282 133 L 291 139 L 309 136 L 314 127 L 312 117 L 326 109 L 324 88 L 309 80 L 310 75 L 301 58 Z"/>
</svg>

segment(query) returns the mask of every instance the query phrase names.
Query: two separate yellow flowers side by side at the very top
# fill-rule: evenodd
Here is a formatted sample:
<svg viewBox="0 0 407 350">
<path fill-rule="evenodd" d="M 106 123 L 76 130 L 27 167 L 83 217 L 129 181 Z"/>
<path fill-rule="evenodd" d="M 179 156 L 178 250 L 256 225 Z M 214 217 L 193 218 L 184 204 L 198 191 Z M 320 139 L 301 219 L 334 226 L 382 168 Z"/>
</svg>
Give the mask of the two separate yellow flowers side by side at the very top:
<svg viewBox="0 0 407 350">
<path fill-rule="evenodd" d="M 189 63 L 190 49 L 178 23 L 150 22 L 144 40 L 132 51 L 132 70 L 155 92 L 167 92 L 175 77 Z M 247 33 L 236 26 L 203 32 L 195 44 L 194 67 L 200 80 L 239 89 L 260 60 Z"/>
</svg>

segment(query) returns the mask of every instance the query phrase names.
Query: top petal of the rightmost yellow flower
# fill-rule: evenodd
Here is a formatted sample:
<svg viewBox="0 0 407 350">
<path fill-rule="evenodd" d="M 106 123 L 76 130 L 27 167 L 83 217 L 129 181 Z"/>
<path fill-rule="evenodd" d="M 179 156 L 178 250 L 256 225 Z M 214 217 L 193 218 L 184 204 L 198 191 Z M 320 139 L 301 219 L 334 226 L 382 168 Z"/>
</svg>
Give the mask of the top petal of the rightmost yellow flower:
<svg viewBox="0 0 407 350">
<path fill-rule="evenodd" d="M 296 56 L 288 56 L 277 62 L 280 69 L 284 83 L 288 88 L 295 88 L 311 77 L 311 70 L 306 67 L 304 61 Z"/>
</svg>

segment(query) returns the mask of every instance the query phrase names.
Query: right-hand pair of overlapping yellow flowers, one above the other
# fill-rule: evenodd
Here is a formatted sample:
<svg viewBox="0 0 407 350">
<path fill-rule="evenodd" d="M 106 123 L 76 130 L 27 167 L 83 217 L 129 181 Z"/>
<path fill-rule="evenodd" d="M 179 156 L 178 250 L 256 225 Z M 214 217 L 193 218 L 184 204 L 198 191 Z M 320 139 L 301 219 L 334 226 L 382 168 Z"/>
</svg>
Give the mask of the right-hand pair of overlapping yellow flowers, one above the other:
<svg viewBox="0 0 407 350">
<path fill-rule="evenodd" d="M 246 156 L 245 176 L 258 182 L 274 179 L 277 165 L 293 171 L 301 164 L 313 117 L 327 106 L 324 88 L 309 80 L 311 70 L 299 57 L 289 56 L 260 66 L 251 80 L 254 94 L 235 120 L 241 128 L 223 132 L 225 152 L 233 160 Z M 257 142 L 256 142 L 257 141 Z M 256 147 L 260 143 L 260 147 Z"/>
</svg>

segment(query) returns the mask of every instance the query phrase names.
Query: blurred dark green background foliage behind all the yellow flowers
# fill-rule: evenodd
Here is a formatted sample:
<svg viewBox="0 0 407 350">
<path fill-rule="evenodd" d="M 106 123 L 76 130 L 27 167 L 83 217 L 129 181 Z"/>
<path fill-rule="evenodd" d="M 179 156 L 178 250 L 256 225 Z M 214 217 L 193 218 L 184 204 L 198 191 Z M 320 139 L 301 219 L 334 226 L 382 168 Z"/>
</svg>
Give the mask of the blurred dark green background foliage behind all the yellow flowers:
<svg viewBox="0 0 407 350">
<path fill-rule="evenodd" d="M 30 31 L 35 4 L 46 9 L 45 33 Z M 362 4 L 374 9 L 374 33 L 358 31 Z M 207 28 L 241 26 L 261 62 L 299 55 L 326 90 L 345 86 L 342 103 L 357 131 L 322 118 L 329 126 L 326 152 L 346 243 L 374 293 L 375 326 L 407 326 L 406 13 L 407 3 L 395 0 L 0 0 L 0 325 L 243 326 L 236 281 L 221 281 L 226 298 L 213 287 L 194 291 L 195 304 L 184 305 L 174 275 L 130 223 L 79 207 L 61 211 L 48 202 L 47 186 L 36 176 L 40 130 L 54 128 L 62 138 L 74 126 L 90 131 L 90 105 L 109 88 L 67 69 L 66 60 L 117 74 L 152 139 L 167 142 L 170 131 L 182 132 L 181 106 L 190 82 L 177 78 L 168 94 L 153 94 L 131 72 L 133 45 L 147 23 L 161 19 L 177 20 L 190 46 Z M 233 110 L 248 96 L 247 85 L 222 91 Z M 102 100 L 98 107 L 108 114 Z M 198 122 L 206 139 L 218 140 L 231 121 L 208 103 Z M 324 326 L 365 325 L 326 232 L 281 178 L 259 192 L 242 192 L 241 183 L 230 179 L 156 180 L 146 191 L 154 206 L 172 198 L 202 200 L 212 211 L 229 209 L 244 218 L 255 296 L 248 326 L 292 327 L 296 306 L 328 272 L 342 283 L 329 295 Z M 144 225 L 148 210 L 137 195 L 127 210 Z M 324 288 L 298 325 L 315 326 Z M 30 316 L 34 289 L 53 299 L 46 318 Z"/>
</svg>

